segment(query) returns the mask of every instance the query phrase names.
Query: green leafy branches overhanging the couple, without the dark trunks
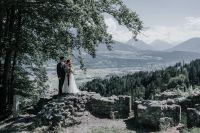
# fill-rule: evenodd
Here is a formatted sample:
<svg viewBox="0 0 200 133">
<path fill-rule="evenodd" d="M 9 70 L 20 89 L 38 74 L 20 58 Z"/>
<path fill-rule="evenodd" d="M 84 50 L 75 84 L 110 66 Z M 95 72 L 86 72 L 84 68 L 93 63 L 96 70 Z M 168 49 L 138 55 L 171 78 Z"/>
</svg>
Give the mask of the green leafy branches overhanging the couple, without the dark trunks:
<svg viewBox="0 0 200 133">
<path fill-rule="evenodd" d="M 43 0 L 43 4 L 31 7 L 31 10 L 37 14 L 32 19 L 35 21 L 38 37 L 43 36 L 44 43 L 51 40 L 57 49 L 62 47 L 61 50 L 57 50 L 56 47 L 50 50 L 49 53 L 54 53 L 54 58 L 59 52 L 60 54 L 65 52 L 64 49 L 76 50 L 79 47 L 95 57 L 96 47 L 99 44 L 106 43 L 110 46 L 112 36 L 107 33 L 104 13 L 113 15 L 119 24 L 126 26 L 133 33 L 134 38 L 142 29 L 142 22 L 137 14 L 129 10 L 121 0 Z M 71 28 L 77 30 L 76 36 L 70 33 Z M 48 45 L 53 44 L 48 43 Z M 46 54 L 47 52 L 48 50 L 45 51 Z"/>
</svg>

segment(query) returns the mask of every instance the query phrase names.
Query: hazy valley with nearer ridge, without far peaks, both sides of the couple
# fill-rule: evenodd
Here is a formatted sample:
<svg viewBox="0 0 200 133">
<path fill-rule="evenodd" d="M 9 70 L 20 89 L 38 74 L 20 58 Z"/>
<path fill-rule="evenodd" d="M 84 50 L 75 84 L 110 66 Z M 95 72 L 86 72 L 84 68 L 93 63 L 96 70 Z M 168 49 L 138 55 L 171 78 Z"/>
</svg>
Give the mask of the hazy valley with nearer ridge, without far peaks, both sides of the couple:
<svg viewBox="0 0 200 133">
<path fill-rule="evenodd" d="M 83 52 L 87 68 L 86 73 L 80 70 L 78 62 L 73 59 L 78 86 L 95 78 L 125 75 L 138 71 L 159 70 L 174 65 L 177 62 L 186 63 L 200 58 L 200 53 L 196 52 L 139 50 L 134 45 L 123 44 L 117 41 L 114 41 L 112 47 L 112 51 L 109 51 L 106 45 L 101 44 L 94 59 Z M 47 70 L 48 84 L 50 86 L 48 93 L 52 95 L 57 93 L 56 62 L 48 62 Z"/>
</svg>

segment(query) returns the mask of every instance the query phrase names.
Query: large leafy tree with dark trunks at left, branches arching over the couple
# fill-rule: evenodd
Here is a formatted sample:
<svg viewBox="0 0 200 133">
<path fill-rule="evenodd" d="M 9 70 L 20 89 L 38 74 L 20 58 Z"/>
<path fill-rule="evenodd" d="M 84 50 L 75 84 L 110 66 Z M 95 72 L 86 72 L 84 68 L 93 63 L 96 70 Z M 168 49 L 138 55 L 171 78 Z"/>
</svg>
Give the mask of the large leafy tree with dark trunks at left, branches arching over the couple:
<svg viewBox="0 0 200 133">
<path fill-rule="evenodd" d="M 73 49 L 83 68 L 81 49 L 95 57 L 99 44 L 110 48 L 112 35 L 107 33 L 105 14 L 126 26 L 133 38 L 142 29 L 138 15 L 122 0 L 1 0 L 0 114 L 11 110 L 16 90 L 32 98 L 30 92 L 41 94 L 47 81 L 45 61 Z"/>
</svg>

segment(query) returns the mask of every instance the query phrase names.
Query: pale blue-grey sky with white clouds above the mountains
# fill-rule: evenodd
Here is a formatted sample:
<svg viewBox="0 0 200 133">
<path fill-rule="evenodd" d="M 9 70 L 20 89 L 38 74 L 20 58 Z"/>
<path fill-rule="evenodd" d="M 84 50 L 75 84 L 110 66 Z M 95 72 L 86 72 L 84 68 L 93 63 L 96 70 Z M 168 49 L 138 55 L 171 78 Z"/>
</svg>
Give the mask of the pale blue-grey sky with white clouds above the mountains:
<svg viewBox="0 0 200 133">
<path fill-rule="evenodd" d="M 144 23 L 138 39 L 146 43 L 162 40 L 173 45 L 200 37 L 200 0 L 123 0 Z M 112 16 L 105 16 L 113 39 L 126 42 L 132 35 Z"/>
</svg>

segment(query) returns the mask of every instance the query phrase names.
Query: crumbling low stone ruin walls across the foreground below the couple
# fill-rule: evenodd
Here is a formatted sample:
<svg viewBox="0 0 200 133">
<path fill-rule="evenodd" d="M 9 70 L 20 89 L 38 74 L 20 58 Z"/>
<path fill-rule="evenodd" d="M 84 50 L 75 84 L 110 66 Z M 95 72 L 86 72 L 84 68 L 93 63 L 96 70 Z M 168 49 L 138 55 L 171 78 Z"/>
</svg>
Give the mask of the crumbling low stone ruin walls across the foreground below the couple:
<svg viewBox="0 0 200 133">
<path fill-rule="evenodd" d="M 171 96 L 170 96 L 171 97 Z M 161 101 L 143 100 L 135 101 L 134 125 L 163 130 L 177 126 L 181 120 L 182 108 L 187 109 L 188 127 L 200 125 L 200 106 L 193 107 L 192 102 L 199 103 L 200 95 L 193 97 L 173 97 Z M 39 119 L 42 124 L 52 127 L 68 127 L 79 124 L 77 119 L 89 111 L 101 118 L 124 119 L 130 117 L 131 97 L 111 96 L 102 97 L 95 92 L 81 92 L 78 94 L 66 94 L 39 102 L 36 106 Z M 192 107 L 192 108 L 188 108 Z"/>
</svg>

